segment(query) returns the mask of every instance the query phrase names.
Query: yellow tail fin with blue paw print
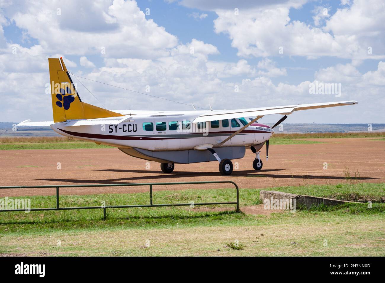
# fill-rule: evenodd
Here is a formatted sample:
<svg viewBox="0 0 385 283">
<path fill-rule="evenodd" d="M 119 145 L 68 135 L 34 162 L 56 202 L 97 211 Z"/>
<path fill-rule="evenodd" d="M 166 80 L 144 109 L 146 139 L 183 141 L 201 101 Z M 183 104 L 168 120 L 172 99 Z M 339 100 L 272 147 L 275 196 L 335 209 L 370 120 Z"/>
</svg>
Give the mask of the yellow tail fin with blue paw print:
<svg viewBox="0 0 385 283">
<path fill-rule="evenodd" d="M 48 58 L 48 64 L 51 81 L 54 123 L 67 120 L 124 116 L 119 113 L 82 102 L 76 91 L 75 85 L 68 74 L 62 57 L 60 57 L 60 60 L 58 58 Z"/>
</svg>

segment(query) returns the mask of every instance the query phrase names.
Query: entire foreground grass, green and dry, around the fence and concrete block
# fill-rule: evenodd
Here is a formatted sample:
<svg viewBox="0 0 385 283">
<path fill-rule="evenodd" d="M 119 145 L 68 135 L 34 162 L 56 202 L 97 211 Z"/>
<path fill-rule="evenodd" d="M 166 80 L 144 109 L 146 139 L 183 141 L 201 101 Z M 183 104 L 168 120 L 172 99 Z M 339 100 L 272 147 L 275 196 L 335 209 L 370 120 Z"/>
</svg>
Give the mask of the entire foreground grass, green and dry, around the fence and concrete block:
<svg viewBox="0 0 385 283">
<path fill-rule="evenodd" d="M 271 190 L 321 197 L 359 195 L 361 199 L 381 201 L 385 184 L 346 183 Z M 239 193 L 241 207 L 261 204 L 259 190 L 240 189 Z M 25 198 L 31 199 L 32 207 L 55 206 L 55 196 Z M 154 192 L 155 204 L 233 200 L 233 188 Z M 60 196 L 61 207 L 100 206 L 102 201 L 107 206 L 148 204 L 149 194 Z M 205 207 L 207 211 L 189 207 L 107 209 L 105 221 L 101 209 L 0 212 L 0 255 L 385 255 L 383 203 L 373 203 L 372 208 L 365 203 L 297 208 L 295 213 L 268 216 L 236 213 L 235 205 L 214 206 L 228 207 L 228 211 L 211 207 Z M 233 249 L 231 243 L 239 243 L 242 249 Z"/>
</svg>

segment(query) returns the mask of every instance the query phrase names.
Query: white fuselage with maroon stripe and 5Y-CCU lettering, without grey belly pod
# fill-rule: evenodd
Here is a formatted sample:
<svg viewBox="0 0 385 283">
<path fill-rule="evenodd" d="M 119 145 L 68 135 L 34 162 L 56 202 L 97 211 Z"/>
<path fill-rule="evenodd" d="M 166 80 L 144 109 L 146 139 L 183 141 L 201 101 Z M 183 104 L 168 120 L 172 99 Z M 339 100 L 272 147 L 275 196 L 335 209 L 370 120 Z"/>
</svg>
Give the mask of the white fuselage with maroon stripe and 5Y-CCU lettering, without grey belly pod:
<svg viewBox="0 0 385 283">
<path fill-rule="evenodd" d="M 155 111 L 154 111 L 155 112 Z M 67 126 L 66 122 L 54 123 L 52 128 L 60 135 L 94 141 L 120 148 L 141 148 L 151 151 L 191 150 L 203 144 L 218 147 L 217 143 L 238 131 L 250 120 L 228 119 L 203 123 L 191 123 L 207 111 L 148 112 L 132 116 L 120 124 Z M 227 122 L 226 122 L 227 121 Z M 206 125 L 204 125 L 206 124 Z M 253 123 L 221 147 L 250 146 L 263 143 L 273 134 L 266 125 Z"/>
</svg>

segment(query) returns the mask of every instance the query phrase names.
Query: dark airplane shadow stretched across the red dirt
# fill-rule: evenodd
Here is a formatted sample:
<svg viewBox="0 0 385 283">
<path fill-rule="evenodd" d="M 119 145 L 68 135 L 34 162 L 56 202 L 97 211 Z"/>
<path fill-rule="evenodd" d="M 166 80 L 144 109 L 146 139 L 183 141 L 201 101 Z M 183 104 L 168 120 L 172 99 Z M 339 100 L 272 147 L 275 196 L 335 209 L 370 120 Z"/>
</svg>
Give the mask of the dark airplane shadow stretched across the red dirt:
<svg viewBox="0 0 385 283">
<path fill-rule="evenodd" d="M 326 179 L 326 180 L 345 180 L 345 177 L 342 176 L 316 176 L 316 175 L 290 175 L 290 174 L 263 174 L 264 172 L 274 172 L 281 171 L 285 169 L 264 169 L 259 170 L 256 174 L 255 170 L 236 170 L 233 171 L 233 174 L 229 176 L 223 176 L 227 178 L 231 177 L 261 177 L 261 178 L 281 178 L 281 179 Z M 110 172 L 125 172 L 125 173 L 156 173 L 159 174 L 160 171 L 150 171 L 150 170 L 119 170 L 119 169 L 101 169 L 94 171 L 110 171 Z M 104 180 L 85 180 L 85 179 L 36 179 L 44 181 L 54 181 L 54 182 L 69 182 L 69 183 L 93 183 L 93 184 L 135 184 L 140 180 L 157 180 L 157 179 L 175 179 L 175 178 L 186 178 L 186 177 L 203 177 L 203 176 L 221 176 L 219 172 L 173 172 L 171 174 L 161 174 L 154 176 L 137 176 L 137 177 L 125 177 L 125 178 L 116 178 L 116 179 L 104 179 Z M 357 177 L 352 178 L 355 180 L 373 180 L 380 179 L 376 177 Z M 134 182 L 130 182 L 134 181 Z"/>
</svg>

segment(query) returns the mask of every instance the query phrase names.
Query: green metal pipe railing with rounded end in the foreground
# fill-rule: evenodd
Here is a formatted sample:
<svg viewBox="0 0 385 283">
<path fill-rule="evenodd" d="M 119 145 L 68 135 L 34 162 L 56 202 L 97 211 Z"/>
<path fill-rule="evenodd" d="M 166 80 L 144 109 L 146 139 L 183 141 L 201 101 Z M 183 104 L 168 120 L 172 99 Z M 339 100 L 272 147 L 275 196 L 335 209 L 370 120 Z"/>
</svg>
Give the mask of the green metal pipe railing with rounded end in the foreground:
<svg viewBox="0 0 385 283">
<path fill-rule="evenodd" d="M 152 202 L 152 187 L 156 185 L 195 185 L 195 184 L 233 184 L 236 189 L 236 202 L 202 202 L 194 203 L 194 206 L 205 206 L 214 204 L 236 204 L 236 212 L 239 211 L 239 189 L 238 185 L 232 181 L 212 181 L 212 182 L 177 182 L 177 183 L 135 183 L 135 184 L 101 184 L 101 185 L 45 185 L 45 186 L 3 186 L 0 189 L 41 189 L 41 188 L 56 188 L 56 207 L 43 207 L 31 209 L 0 209 L 0 212 L 5 211 L 46 211 L 46 210 L 72 210 L 72 209 L 103 209 L 103 219 L 106 217 L 107 208 L 124 208 L 124 207 L 161 207 L 161 206 L 191 206 L 191 204 L 154 204 Z M 80 206 L 80 207 L 60 207 L 59 206 L 59 188 L 87 188 L 87 187 L 150 187 L 150 204 L 127 205 L 127 206 Z"/>
</svg>

